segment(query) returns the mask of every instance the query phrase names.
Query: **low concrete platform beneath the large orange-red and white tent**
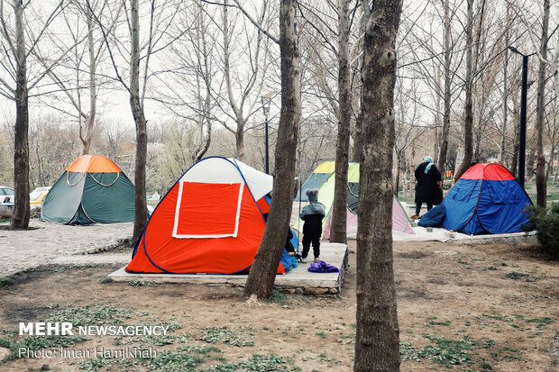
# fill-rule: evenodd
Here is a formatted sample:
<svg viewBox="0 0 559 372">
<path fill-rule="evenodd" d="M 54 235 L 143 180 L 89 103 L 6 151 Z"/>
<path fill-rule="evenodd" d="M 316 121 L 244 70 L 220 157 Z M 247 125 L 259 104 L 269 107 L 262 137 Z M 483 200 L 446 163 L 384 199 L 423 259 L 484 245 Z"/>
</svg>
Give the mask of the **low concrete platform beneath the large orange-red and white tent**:
<svg viewBox="0 0 559 372">
<path fill-rule="evenodd" d="M 295 293 L 300 288 L 304 294 L 325 295 L 337 294 L 344 284 L 344 275 L 347 270 L 348 250 L 345 244 L 322 242 L 320 244 L 320 259 L 330 265 L 340 268 L 339 273 L 311 273 L 307 270 L 312 262 L 298 263 L 297 268 L 292 268 L 285 275 L 276 277 L 276 286 L 282 290 Z M 133 274 L 119 268 L 109 274 L 115 282 L 128 282 L 143 280 L 150 283 L 185 283 L 204 284 L 208 286 L 244 286 L 247 275 L 204 275 L 204 274 Z M 299 292 L 299 291 L 298 291 Z"/>
</svg>

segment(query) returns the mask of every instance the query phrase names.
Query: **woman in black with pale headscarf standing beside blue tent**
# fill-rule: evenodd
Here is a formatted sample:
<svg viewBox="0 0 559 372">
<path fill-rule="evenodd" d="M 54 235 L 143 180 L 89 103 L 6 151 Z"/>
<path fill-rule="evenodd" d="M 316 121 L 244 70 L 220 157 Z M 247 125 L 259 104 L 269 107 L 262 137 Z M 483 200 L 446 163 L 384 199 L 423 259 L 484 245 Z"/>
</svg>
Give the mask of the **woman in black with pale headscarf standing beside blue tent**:
<svg viewBox="0 0 559 372">
<path fill-rule="evenodd" d="M 443 178 L 441 172 L 436 168 L 433 158 L 426 156 L 423 163 L 416 168 L 416 214 L 411 218 L 419 218 L 421 205 L 427 204 L 427 211 L 433 205 L 441 204 L 443 201 Z"/>
</svg>

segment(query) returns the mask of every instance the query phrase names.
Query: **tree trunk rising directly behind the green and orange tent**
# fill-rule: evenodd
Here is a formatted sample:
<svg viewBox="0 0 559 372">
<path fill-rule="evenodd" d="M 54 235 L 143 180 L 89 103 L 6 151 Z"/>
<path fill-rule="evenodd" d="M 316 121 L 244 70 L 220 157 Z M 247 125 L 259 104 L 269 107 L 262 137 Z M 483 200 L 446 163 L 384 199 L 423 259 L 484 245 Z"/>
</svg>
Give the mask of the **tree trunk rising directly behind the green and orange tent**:
<svg viewBox="0 0 559 372">
<path fill-rule="evenodd" d="M 89 153 L 91 147 L 91 140 L 93 139 L 93 127 L 96 118 L 97 106 L 97 81 L 96 81 L 96 53 L 95 43 L 93 41 L 93 18 L 91 9 L 86 10 L 87 17 L 87 52 L 89 54 L 89 113 L 86 118 L 86 133 L 82 136 L 81 125 L 79 126 L 79 138 L 83 144 L 81 150 L 82 155 Z M 81 113 L 80 113 L 81 114 Z"/>
</svg>

